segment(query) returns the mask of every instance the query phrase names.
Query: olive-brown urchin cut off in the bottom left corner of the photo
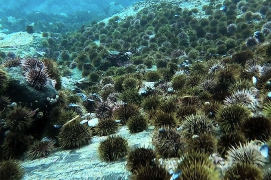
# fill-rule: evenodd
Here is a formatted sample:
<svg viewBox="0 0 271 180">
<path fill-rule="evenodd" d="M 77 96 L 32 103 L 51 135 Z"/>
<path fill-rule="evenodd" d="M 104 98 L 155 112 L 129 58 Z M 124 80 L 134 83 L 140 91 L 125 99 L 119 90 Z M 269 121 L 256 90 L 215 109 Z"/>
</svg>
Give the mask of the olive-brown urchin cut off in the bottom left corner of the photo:
<svg viewBox="0 0 271 180">
<path fill-rule="evenodd" d="M 0 179 L 2 180 L 20 180 L 23 177 L 23 168 L 21 163 L 16 160 L 0 162 Z"/>
</svg>

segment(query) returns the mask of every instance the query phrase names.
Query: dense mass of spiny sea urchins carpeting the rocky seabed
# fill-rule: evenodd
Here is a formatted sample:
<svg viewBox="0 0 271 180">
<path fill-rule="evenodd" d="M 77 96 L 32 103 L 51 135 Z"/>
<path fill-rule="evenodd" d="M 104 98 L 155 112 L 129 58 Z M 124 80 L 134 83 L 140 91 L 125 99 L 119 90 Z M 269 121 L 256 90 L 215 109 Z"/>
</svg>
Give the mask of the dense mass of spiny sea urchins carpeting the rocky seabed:
<svg viewBox="0 0 271 180">
<path fill-rule="evenodd" d="M 268 170 L 263 173 L 271 146 L 271 44 L 263 41 L 271 34 L 271 23 L 251 36 L 260 27 L 253 24 L 258 14 L 246 12 L 242 19 L 235 11 L 245 12 L 246 2 L 224 1 L 216 12 L 213 3 L 203 7 L 210 15 L 205 19 L 191 16 L 197 9 L 163 2 L 155 5 L 155 13 L 142 11 L 120 24 L 115 16 L 107 25 L 83 26 L 76 37 L 62 39 L 61 53 L 56 53 L 65 67 L 62 74 L 70 76 L 77 67 L 92 85 L 76 92 L 59 90 L 58 103 L 45 115 L 48 126 L 58 130 L 52 136 L 56 144 L 46 138 L 32 142 L 26 130 L 34 124 L 33 111 L 11 107 L 3 95 L 8 75 L 1 70 L 0 113 L 9 131 L 1 145 L 7 159 L 0 162 L 0 179 L 22 176 L 20 164 L 10 158 L 21 158 L 23 152 L 30 160 L 45 157 L 55 146 L 79 148 L 94 135 L 107 136 L 98 146 L 100 160 L 126 158 L 132 180 L 271 179 Z M 261 5 L 261 14 L 270 19 L 270 3 Z M 51 47 L 59 46 L 55 39 L 48 38 Z M 99 46 L 92 42 L 97 39 Z M 36 89 L 58 74 L 38 58 L 15 57 L 3 65 L 21 66 L 26 82 Z M 157 70 L 148 70 L 153 65 Z M 96 118 L 89 119 L 88 113 Z M 130 147 L 117 134 L 124 125 L 130 133 L 151 125 L 153 148 Z"/>
</svg>

